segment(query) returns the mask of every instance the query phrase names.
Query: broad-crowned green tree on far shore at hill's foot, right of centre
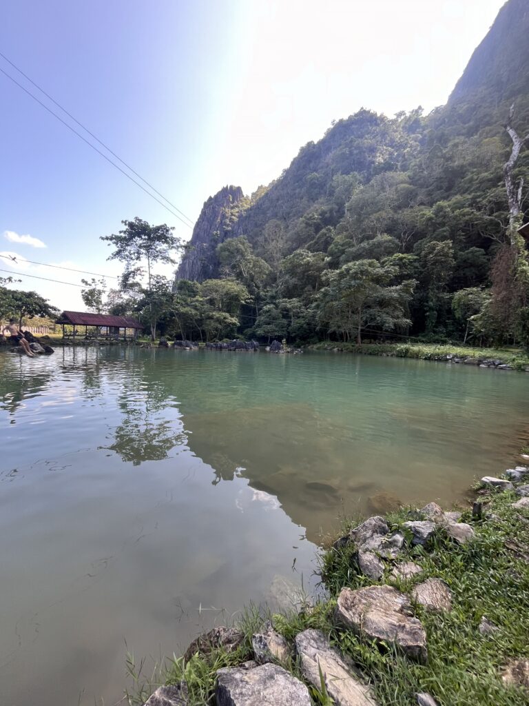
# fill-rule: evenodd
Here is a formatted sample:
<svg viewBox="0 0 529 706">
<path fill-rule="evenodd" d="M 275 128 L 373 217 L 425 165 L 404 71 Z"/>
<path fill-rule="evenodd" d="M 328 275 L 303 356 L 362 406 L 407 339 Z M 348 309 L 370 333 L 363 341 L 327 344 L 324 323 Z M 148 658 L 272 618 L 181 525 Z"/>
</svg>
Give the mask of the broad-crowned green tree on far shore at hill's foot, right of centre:
<svg viewBox="0 0 529 706">
<path fill-rule="evenodd" d="M 330 332 L 343 335 L 345 340 L 355 333 L 358 345 L 367 325 L 382 330 L 410 325 L 407 306 L 415 282 L 388 286 L 394 274 L 393 268 L 376 260 L 358 260 L 325 273 L 327 286 L 319 296 L 320 325 L 327 325 Z"/>
</svg>

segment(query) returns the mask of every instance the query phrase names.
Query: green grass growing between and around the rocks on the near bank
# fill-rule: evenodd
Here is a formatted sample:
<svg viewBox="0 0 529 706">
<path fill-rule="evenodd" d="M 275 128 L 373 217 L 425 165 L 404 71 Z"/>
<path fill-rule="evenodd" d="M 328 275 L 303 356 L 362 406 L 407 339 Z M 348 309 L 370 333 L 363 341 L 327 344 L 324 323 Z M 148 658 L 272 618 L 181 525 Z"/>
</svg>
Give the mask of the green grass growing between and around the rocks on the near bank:
<svg viewBox="0 0 529 706">
<path fill-rule="evenodd" d="M 421 691 L 430 693 L 439 706 L 527 706 L 529 691 L 505 686 L 501 672 L 509 660 L 529 658 L 529 513 L 511 507 L 519 499 L 513 491 L 488 491 L 481 499 L 487 503 L 482 520 L 473 520 L 468 511 L 463 513 L 462 520 L 475 530 L 474 539 L 463 545 L 453 542 L 439 526 L 429 545 L 412 546 L 403 522 L 424 518 L 405 509 L 387 516 L 391 529 L 403 530 L 407 538 L 399 561 L 414 561 L 422 569 L 409 580 L 391 578 L 391 566 L 379 582 L 366 578 L 358 570 L 352 544 L 322 551 L 320 570 L 328 598 L 300 613 L 274 614 L 274 628 L 290 643 L 305 628 L 322 630 L 371 684 L 379 706 L 415 705 L 415 693 Z M 350 527 L 351 523 L 346 523 L 344 532 Z M 342 587 L 390 584 L 409 593 L 426 578 L 442 578 L 453 601 L 451 611 L 442 614 L 414 605 L 415 616 L 427 633 L 427 665 L 410 662 L 396 650 L 377 647 L 336 626 L 334 609 Z M 484 616 L 496 626 L 490 634 L 479 630 Z M 257 610 L 246 611 L 238 623 L 243 642 L 235 651 L 220 647 L 207 655 L 196 653 L 188 662 L 182 657 L 173 659 L 150 683 L 142 683 L 142 675 L 130 662 L 135 697 L 129 702 L 142 703 L 159 683 L 183 679 L 188 684 L 190 704 L 214 703 L 210 699 L 217 669 L 253 659 L 251 638 L 266 617 Z M 300 677 L 294 658 L 283 666 Z M 313 687 L 311 695 L 315 704 L 332 703 Z"/>
</svg>

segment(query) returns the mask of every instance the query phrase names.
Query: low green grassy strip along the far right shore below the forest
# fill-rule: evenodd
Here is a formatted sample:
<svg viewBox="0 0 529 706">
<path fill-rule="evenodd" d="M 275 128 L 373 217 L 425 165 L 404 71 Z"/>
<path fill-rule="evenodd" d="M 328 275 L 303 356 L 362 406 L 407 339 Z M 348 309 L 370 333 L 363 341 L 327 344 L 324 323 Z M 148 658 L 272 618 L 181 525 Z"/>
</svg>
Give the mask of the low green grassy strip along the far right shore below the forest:
<svg viewBox="0 0 529 706">
<path fill-rule="evenodd" d="M 529 373 L 529 354 L 521 349 L 470 348 L 427 343 L 333 343 L 311 345 L 312 350 L 326 350 L 364 355 L 442 361 L 476 365 L 480 368 L 519 370 Z"/>
</svg>

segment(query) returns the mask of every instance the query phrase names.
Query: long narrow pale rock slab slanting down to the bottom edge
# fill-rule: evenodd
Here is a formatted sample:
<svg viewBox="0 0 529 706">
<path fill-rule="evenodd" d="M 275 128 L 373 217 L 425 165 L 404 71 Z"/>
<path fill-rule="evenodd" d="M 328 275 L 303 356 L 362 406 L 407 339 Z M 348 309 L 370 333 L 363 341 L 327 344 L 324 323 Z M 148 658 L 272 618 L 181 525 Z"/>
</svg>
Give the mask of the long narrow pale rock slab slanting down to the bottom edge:
<svg viewBox="0 0 529 706">
<path fill-rule="evenodd" d="M 351 667 L 320 630 L 305 630 L 294 642 L 303 676 L 321 690 L 321 670 L 327 693 L 336 706 L 375 706 L 370 689 L 353 676 Z"/>
</svg>

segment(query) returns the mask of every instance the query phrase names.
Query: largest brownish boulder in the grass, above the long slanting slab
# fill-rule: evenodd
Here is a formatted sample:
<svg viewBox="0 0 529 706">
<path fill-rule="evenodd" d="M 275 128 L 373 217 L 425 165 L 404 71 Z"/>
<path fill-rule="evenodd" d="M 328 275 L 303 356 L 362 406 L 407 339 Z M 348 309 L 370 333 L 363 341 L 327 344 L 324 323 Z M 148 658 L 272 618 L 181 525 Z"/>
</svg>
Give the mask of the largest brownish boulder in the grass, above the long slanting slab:
<svg viewBox="0 0 529 706">
<path fill-rule="evenodd" d="M 410 615 L 408 598 L 391 586 L 343 588 L 336 604 L 336 621 L 368 640 L 399 647 L 422 664 L 427 662 L 426 633 Z"/>
</svg>

